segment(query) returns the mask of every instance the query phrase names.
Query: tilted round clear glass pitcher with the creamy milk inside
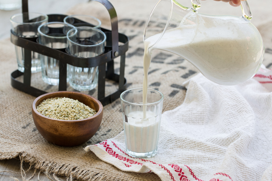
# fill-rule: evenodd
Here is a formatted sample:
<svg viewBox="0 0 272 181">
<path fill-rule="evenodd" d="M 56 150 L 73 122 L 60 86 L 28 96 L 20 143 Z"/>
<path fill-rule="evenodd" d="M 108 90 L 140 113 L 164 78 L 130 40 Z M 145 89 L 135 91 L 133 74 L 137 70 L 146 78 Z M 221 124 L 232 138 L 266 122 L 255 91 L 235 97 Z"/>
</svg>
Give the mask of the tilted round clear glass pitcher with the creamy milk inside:
<svg viewBox="0 0 272 181">
<path fill-rule="evenodd" d="M 148 52 L 174 53 L 217 84 L 235 85 L 252 78 L 264 59 L 264 45 L 250 22 L 248 2 L 241 2 L 243 15 L 238 17 L 199 13 L 199 1 L 191 1 L 191 8 L 176 0 L 157 2 L 144 29 Z"/>
</svg>

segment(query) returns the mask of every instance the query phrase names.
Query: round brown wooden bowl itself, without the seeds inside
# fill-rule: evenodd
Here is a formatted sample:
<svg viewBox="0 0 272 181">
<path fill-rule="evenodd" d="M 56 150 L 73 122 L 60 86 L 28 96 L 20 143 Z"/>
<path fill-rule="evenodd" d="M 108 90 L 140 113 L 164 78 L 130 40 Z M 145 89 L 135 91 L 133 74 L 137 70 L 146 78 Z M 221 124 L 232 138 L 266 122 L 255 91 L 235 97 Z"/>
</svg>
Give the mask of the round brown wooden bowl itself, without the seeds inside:
<svg viewBox="0 0 272 181">
<path fill-rule="evenodd" d="M 36 108 L 43 101 L 53 97 L 68 97 L 96 110 L 96 114 L 86 119 L 52 119 L 39 113 Z M 58 91 L 37 97 L 32 105 L 32 116 L 39 133 L 49 142 L 60 146 L 76 146 L 88 141 L 97 132 L 103 116 L 103 106 L 99 100 L 79 92 Z"/>
</svg>

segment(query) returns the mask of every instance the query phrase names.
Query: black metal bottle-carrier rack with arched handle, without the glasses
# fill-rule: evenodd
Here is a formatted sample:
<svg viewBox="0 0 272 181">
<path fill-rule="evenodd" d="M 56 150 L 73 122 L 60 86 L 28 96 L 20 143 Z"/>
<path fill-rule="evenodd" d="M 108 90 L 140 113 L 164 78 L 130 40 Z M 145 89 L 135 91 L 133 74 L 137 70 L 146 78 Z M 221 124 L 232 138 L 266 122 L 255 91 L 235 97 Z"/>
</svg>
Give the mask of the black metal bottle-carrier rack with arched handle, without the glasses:
<svg viewBox="0 0 272 181">
<path fill-rule="evenodd" d="M 47 46 L 37 43 L 37 38 L 22 38 L 15 35 L 11 31 L 11 42 L 17 46 L 24 48 L 24 73 L 16 70 L 11 73 L 11 86 L 21 90 L 27 94 L 33 96 L 40 96 L 45 94 L 44 90 L 31 87 L 31 51 L 43 54 L 45 56 L 50 56 L 54 59 L 60 61 L 60 74 L 59 74 L 59 91 L 66 90 L 66 66 L 67 64 L 90 68 L 96 67 L 99 68 L 98 75 L 98 100 L 102 105 L 107 105 L 108 103 L 113 102 L 118 99 L 120 94 L 126 90 L 126 79 L 125 74 L 125 52 L 128 50 L 128 37 L 124 34 L 118 33 L 118 21 L 115 9 L 108 0 L 94 0 L 102 3 L 108 10 L 111 18 L 112 30 L 107 30 L 101 28 L 106 34 L 106 46 L 105 52 L 96 57 L 92 58 L 79 58 L 71 56 L 66 53 L 66 49 L 52 49 Z M 22 11 L 28 12 L 28 0 L 22 0 Z M 62 21 L 66 15 L 63 14 L 51 14 L 48 15 L 48 22 L 52 21 Z M 28 17 L 24 18 L 28 21 Z M 118 46 L 118 43 L 121 42 L 123 45 Z M 110 46 L 109 46 L 110 45 Z M 120 74 L 114 73 L 114 59 L 120 56 Z M 23 83 L 16 80 L 19 76 L 24 75 Z M 105 97 L 105 79 L 108 78 L 112 81 L 118 82 L 118 90 L 107 97 Z"/>
</svg>

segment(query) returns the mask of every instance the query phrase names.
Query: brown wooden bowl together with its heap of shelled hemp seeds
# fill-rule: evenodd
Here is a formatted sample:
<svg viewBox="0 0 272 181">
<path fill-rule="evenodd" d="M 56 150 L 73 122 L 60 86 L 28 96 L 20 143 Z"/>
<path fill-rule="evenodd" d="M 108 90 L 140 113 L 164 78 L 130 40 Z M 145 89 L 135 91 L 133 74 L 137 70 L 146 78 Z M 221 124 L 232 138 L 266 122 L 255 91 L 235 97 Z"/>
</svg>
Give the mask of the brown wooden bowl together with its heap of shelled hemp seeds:
<svg viewBox="0 0 272 181">
<path fill-rule="evenodd" d="M 39 133 L 60 146 L 76 146 L 97 132 L 103 116 L 99 100 L 79 92 L 58 91 L 37 97 L 32 116 Z"/>
</svg>

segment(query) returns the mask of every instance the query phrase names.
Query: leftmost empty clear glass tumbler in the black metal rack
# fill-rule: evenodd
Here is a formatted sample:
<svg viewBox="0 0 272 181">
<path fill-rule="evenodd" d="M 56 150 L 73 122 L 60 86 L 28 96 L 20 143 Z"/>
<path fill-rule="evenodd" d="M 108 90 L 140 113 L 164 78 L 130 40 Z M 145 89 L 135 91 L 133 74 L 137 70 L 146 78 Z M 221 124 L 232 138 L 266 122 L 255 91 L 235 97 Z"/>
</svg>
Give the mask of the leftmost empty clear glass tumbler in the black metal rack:
<svg viewBox="0 0 272 181">
<path fill-rule="evenodd" d="M 48 22 L 48 16 L 42 13 L 18 13 L 10 18 L 12 32 L 19 37 L 38 37 L 38 27 Z M 24 48 L 15 45 L 18 70 L 24 72 Z M 41 70 L 41 55 L 31 51 L 31 73 Z"/>
</svg>

